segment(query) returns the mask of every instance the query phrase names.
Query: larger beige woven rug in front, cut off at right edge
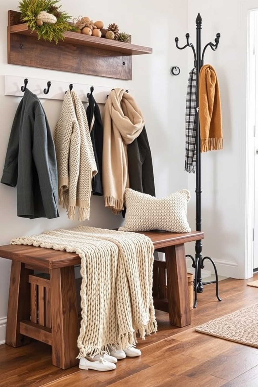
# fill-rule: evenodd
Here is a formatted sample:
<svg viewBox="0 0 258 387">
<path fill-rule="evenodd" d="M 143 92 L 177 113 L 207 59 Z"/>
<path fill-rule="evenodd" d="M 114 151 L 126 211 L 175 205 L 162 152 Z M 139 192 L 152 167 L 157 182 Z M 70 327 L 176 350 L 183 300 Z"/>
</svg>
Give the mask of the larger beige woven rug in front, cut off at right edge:
<svg viewBox="0 0 258 387">
<path fill-rule="evenodd" d="M 258 348 L 258 303 L 199 325 L 195 330 Z"/>
</svg>

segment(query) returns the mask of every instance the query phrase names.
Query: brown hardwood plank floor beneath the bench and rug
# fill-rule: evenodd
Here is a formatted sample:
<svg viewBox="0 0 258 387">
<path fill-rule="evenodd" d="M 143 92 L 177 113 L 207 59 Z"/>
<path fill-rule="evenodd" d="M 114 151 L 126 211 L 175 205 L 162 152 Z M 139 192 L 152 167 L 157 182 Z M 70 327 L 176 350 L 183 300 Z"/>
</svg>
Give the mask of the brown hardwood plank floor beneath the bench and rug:
<svg viewBox="0 0 258 387">
<path fill-rule="evenodd" d="M 139 341 L 139 358 L 126 358 L 116 370 L 96 372 L 77 366 L 61 370 L 51 364 L 51 347 L 31 342 L 23 347 L 0 346 L 1 387 L 257 387 L 258 348 L 244 346 L 195 331 L 196 325 L 258 302 L 258 288 L 250 281 L 224 279 L 204 286 L 191 325 L 169 325 L 168 313 L 156 311 L 157 334 Z M 254 327 L 256 329 L 257 327 Z"/>
</svg>

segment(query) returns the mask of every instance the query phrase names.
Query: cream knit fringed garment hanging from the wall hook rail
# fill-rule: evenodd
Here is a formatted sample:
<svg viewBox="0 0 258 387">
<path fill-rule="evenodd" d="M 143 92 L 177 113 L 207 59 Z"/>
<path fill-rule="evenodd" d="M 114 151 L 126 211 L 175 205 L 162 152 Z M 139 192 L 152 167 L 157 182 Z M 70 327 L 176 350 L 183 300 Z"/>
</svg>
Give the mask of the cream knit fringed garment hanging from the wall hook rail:
<svg viewBox="0 0 258 387">
<path fill-rule="evenodd" d="M 89 132 L 87 116 L 79 96 L 67 90 L 59 120 L 54 131 L 58 168 L 59 204 L 67 210 L 68 218 L 90 217 L 91 180 L 97 166 Z"/>
</svg>

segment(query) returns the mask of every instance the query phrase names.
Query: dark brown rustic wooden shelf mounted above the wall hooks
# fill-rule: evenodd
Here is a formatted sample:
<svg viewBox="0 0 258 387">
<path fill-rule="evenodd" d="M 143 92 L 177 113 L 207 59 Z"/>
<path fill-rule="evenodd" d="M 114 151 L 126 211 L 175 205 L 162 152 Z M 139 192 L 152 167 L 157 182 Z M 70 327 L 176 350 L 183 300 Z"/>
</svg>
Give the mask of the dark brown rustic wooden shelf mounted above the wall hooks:
<svg viewBox="0 0 258 387">
<path fill-rule="evenodd" d="M 8 63 L 118 79 L 132 79 L 132 55 L 152 48 L 67 31 L 56 45 L 38 39 L 21 24 L 21 13 L 8 11 Z"/>
</svg>

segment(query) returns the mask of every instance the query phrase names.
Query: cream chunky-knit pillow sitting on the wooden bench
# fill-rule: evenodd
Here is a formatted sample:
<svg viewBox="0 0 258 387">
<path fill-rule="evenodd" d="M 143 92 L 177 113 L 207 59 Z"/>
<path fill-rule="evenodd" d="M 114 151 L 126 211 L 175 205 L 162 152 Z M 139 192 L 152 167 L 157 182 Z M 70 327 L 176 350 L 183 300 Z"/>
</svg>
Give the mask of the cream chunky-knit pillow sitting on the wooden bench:
<svg viewBox="0 0 258 387">
<path fill-rule="evenodd" d="M 125 221 L 120 231 L 164 230 L 190 233 L 186 213 L 190 192 L 186 189 L 157 199 L 148 194 L 125 190 Z"/>
</svg>

